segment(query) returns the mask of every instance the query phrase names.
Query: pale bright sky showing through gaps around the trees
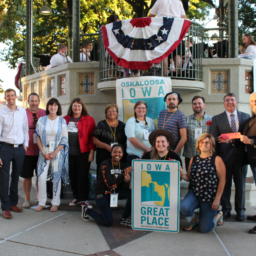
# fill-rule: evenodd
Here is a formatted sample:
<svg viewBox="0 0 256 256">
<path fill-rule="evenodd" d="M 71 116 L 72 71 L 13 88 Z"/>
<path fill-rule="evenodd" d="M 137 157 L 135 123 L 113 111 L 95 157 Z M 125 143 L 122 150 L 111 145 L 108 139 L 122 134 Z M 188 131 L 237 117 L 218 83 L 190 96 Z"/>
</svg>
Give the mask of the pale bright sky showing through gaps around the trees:
<svg viewBox="0 0 256 256">
<path fill-rule="evenodd" d="M 215 14 L 214 9 L 211 10 L 209 18 L 205 20 L 204 23 L 208 22 Z M 198 20 L 195 20 L 199 24 L 202 24 L 203 22 L 200 22 Z M 216 20 L 211 20 L 209 23 L 206 24 L 206 28 L 217 28 L 217 21 Z M 0 43 L 0 49 L 3 49 L 5 47 L 8 47 L 6 44 Z M 17 61 L 18 63 L 18 61 Z M 19 94 L 19 90 L 16 88 L 14 84 L 14 79 L 17 74 L 17 69 L 10 69 L 7 65 L 6 62 L 0 62 L 0 79 L 3 80 L 4 82 L 1 82 L 3 90 L 6 90 L 8 88 L 15 89 L 17 95 Z"/>
</svg>

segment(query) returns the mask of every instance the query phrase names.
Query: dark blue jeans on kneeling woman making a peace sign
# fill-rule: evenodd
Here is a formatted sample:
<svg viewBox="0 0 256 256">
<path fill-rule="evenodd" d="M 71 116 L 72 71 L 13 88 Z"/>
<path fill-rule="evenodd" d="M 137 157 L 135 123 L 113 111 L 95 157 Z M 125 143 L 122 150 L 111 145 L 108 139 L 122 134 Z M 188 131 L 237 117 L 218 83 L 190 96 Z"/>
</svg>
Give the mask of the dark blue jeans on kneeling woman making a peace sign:
<svg viewBox="0 0 256 256">
<path fill-rule="evenodd" d="M 131 215 L 131 189 L 116 188 L 115 192 L 118 193 L 118 200 L 127 199 L 125 211 L 122 216 L 122 218 L 126 219 Z M 86 210 L 87 214 L 106 227 L 112 226 L 113 215 L 110 207 L 110 194 L 103 195 L 101 198 L 97 198 L 97 195 L 94 195 L 94 198 L 100 209 L 100 213 L 88 208 Z"/>
</svg>

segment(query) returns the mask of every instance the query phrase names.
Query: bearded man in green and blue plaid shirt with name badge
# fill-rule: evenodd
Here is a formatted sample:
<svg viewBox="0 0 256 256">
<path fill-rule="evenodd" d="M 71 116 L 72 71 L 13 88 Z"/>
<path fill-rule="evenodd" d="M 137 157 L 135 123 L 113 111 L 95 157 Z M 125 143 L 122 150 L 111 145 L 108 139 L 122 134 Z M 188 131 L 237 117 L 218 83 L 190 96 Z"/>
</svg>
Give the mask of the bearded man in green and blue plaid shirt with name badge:
<svg viewBox="0 0 256 256">
<path fill-rule="evenodd" d="M 193 156 L 198 154 L 195 149 L 197 144 L 197 139 L 203 133 L 210 132 L 210 123 L 212 121 L 212 116 L 207 115 L 204 112 L 205 109 L 205 98 L 201 96 L 195 96 L 192 99 L 192 109 L 194 111 L 193 115 L 187 116 L 187 141 L 184 145 L 183 156 L 185 156 L 185 166 L 186 170 L 189 165 L 189 161 Z"/>
</svg>

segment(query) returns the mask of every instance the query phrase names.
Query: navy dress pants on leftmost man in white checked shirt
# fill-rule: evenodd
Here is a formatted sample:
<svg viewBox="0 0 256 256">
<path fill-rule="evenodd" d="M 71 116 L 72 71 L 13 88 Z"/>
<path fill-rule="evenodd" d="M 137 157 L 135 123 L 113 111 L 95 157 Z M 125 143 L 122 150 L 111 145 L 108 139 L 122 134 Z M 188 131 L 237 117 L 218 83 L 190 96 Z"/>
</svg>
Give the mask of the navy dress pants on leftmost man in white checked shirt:
<svg viewBox="0 0 256 256">
<path fill-rule="evenodd" d="M 18 181 L 22 170 L 26 150 L 23 146 L 13 148 L 2 144 L 0 147 L 0 200 L 3 211 L 10 210 L 18 204 Z M 12 162 L 11 183 L 9 187 L 10 165 Z"/>
</svg>

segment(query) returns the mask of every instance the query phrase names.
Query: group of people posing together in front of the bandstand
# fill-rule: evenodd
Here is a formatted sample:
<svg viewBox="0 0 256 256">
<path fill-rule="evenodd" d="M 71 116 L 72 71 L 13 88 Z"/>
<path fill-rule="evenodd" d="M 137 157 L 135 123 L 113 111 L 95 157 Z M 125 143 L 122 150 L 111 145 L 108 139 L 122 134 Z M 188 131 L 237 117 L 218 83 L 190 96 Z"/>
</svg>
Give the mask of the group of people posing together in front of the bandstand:
<svg viewBox="0 0 256 256">
<path fill-rule="evenodd" d="M 205 99 L 195 96 L 192 99 L 194 113 L 185 117 L 178 109 L 182 102 L 180 94 L 169 92 L 164 97 L 167 109 L 159 113 L 157 126 L 146 116 L 148 106 L 143 100 L 135 103 L 134 116 L 127 120 L 126 125 L 118 120 L 117 104 L 109 104 L 105 108 L 106 119 L 96 126 L 80 98 L 71 102 L 63 118 L 61 104 L 55 98 L 48 101 L 46 110 L 38 108 L 40 100 L 36 93 L 28 96 L 26 110 L 16 106 L 16 98 L 13 89 L 6 90 L 7 106 L 0 112 L 0 199 L 4 218 L 12 218 L 10 210 L 22 211 L 17 207 L 19 176 L 24 178 L 26 198 L 23 207 L 31 206 L 31 179 L 36 170 L 36 211 L 46 206 L 46 180 L 51 177 L 53 199 L 50 211 L 57 211 L 60 205 L 61 181 L 67 185 L 70 180 L 74 199 L 69 205 L 82 205 L 83 220 L 90 220 L 91 216 L 99 223 L 111 226 L 110 201 L 112 194 L 118 191 L 118 199 L 127 199 L 120 223 L 131 226 L 132 160 L 152 159 L 179 161 L 180 176 L 189 181 L 189 191 L 180 205 L 181 212 L 190 221 L 185 231 L 199 225 L 201 232 L 206 233 L 223 224 L 232 208 L 232 179 L 235 183 L 236 220 L 244 220 L 247 164 L 250 164 L 254 178 L 256 169 L 253 128 L 256 93 L 250 97 L 252 117 L 236 110 L 238 102 L 233 93 L 224 97 L 225 112 L 214 117 L 205 113 Z M 242 134 L 239 139 L 221 137 L 224 133 L 236 132 Z M 244 154 L 245 146 L 248 159 Z M 183 147 L 186 173 L 180 158 Z M 95 150 L 97 181 L 94 197 L 100 213 L 92 210 L 88 202 L 88 175 Z M 221 210 L 218 210 L 219 205 Z M 197 208 L 200 208 L 199 219 L 194 213 Z M 255 220 L 255 216 L 247 218 Z M 256 227 L 249 232 L 255 233 Z"/>
</svg>

